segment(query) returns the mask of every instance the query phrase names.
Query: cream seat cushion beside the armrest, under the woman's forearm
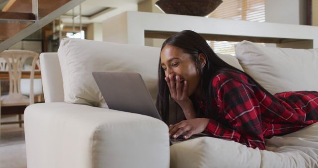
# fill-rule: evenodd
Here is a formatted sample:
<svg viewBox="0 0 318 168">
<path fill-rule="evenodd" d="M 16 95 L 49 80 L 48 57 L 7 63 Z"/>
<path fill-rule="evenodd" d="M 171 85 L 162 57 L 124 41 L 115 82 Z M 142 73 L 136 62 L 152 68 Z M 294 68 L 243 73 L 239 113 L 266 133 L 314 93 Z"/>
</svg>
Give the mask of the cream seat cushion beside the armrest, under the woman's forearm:
<svg viewBox="0 0 318 168">
<path fill-rule="evenodd" d="M 170 168 L 260 168 L 260 150 L 212 137 L 170 147 Z"/>
</svg>

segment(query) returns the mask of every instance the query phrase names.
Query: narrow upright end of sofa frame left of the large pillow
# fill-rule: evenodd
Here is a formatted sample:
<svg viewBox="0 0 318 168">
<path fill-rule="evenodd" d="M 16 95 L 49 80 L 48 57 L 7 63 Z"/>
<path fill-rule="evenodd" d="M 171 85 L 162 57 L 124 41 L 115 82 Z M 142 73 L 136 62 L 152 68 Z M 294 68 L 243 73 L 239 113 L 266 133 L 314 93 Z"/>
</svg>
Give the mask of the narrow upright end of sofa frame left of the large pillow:
<svg viewBox="0 0 318 168">
<path fill-rule="evenodd" d="M 64 90 L 58 53 L 41 53 L 41 76 L 45 102 L 64 102 Z"/>
</svg>

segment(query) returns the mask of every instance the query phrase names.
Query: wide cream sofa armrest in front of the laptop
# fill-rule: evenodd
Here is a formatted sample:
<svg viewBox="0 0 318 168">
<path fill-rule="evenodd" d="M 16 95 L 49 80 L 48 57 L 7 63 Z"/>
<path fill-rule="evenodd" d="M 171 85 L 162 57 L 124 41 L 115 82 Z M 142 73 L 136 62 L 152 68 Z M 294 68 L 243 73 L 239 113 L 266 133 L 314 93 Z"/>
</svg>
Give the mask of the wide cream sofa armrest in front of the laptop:
<svg viewBox="0 0 318 168">
<path fill-rule="evenodd" d="M 64 102 L 24 112 L 28 168 L 168 168 L 168 127 L 129 112 Z"/>
</svg>

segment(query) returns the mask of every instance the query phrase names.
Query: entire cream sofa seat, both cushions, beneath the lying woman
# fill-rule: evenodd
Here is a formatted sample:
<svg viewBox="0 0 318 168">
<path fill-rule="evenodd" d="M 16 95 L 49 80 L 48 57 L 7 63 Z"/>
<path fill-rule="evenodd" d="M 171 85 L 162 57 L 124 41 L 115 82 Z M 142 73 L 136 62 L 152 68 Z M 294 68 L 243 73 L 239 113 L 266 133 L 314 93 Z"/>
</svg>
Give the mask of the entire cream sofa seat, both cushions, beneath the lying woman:
<svg viewBox="0 0 318 168">
<path fill-rule="evenodd" d="M 266 139 L 266 150 L 200 137 L 170 147 L 170 168 L 317 168 L 318 123 Z"/>
</svg>

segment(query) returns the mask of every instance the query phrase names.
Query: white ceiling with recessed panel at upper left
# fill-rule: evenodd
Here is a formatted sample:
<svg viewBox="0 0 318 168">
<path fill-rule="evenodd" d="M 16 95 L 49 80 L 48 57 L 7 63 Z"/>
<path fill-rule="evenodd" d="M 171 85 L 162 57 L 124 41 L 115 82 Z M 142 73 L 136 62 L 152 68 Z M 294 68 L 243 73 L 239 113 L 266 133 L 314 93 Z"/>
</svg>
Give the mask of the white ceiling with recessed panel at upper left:
<svg viewBox="0 0 318 168">
<path fill-rule="evenodd" d="M 85 0 L 81 3 L 81 23 L 89 24 L 122 13 L 124 11 L 137 11 L 138 3 L 144 0 Z M 72 23 L 73 10 L 61 16 L 63 23 Z M 74 22 L 79 23 L 79 6 L 74 8 Z"/>
</svg>

